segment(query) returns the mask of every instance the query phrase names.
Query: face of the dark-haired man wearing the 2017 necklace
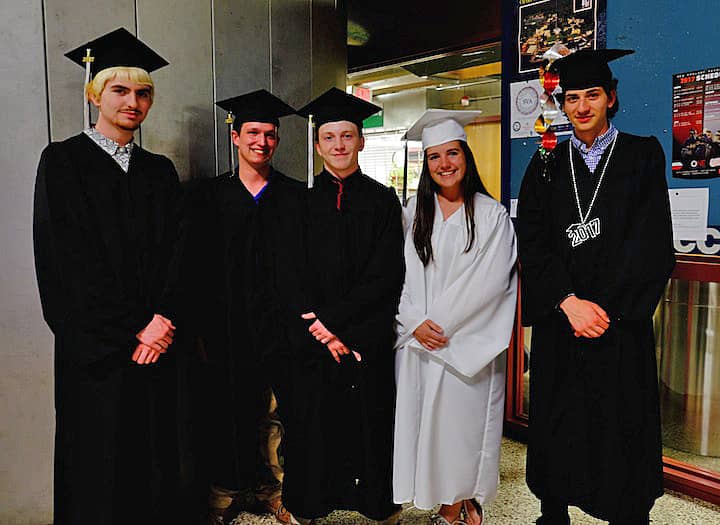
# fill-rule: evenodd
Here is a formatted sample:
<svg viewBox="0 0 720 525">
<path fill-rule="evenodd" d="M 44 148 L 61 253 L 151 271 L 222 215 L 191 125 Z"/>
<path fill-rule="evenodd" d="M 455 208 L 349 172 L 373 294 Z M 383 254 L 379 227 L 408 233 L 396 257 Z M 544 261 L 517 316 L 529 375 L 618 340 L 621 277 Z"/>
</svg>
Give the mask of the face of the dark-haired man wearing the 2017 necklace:
<svg viewBox="0 0 720 525">
<path fill-rule="evenodd" d="M 563 100 L 563 111 L 575 128 L 575 136 L 591 145 L 608 130 L 607 112 L 615 104 L 615 91 L 608 95 L 602 87 L 569 89 Z"/>
</svg>

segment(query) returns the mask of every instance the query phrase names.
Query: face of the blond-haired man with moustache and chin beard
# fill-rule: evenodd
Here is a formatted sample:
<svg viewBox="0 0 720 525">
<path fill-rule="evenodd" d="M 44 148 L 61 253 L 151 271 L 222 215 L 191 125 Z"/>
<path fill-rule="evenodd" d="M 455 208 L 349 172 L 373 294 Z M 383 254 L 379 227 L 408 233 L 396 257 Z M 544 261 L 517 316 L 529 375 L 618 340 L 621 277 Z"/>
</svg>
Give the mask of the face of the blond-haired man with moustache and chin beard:
<svg viewBox="0 0 720 525">
<path fill-rule="evenodd" d="M 106 137 L 123 142 L 128 136 L 132 138 L 145 120 L 152 106 L 152 89 L 131 80 L 111 78 L 100 96 L 90 100 L 98 108 L 95 128 Z"/>
</svg>

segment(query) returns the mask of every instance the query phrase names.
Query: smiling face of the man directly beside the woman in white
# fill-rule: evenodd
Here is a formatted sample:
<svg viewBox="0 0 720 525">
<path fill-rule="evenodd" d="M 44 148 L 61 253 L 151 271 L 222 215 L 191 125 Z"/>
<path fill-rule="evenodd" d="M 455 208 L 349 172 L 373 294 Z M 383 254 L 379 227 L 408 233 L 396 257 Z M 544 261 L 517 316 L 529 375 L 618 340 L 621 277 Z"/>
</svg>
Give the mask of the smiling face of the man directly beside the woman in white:
<svg viewBox="0 0 720 525">
<path fill-rule="evenodd" d="M 365 138 L 357 125 L 347 120 L 327 122 L 318 129 L 315 149 L 336 177 L 347 177 L 359 169 L 358 155 L 364 147 Z"/>
</svg>

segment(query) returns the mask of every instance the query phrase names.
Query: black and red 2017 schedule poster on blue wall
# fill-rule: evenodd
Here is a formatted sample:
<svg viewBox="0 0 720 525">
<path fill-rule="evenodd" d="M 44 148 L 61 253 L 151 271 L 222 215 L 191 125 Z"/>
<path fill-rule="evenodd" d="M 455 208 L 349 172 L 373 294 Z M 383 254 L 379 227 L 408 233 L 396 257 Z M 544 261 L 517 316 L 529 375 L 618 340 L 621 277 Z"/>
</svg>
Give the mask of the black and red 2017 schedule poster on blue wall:
<svg viewBox="0 0 720 525">
<path fill-rule="evenodd" d="M 672 172 L 720 176 L 720 67 L 673 75 Z"/>
</svg>

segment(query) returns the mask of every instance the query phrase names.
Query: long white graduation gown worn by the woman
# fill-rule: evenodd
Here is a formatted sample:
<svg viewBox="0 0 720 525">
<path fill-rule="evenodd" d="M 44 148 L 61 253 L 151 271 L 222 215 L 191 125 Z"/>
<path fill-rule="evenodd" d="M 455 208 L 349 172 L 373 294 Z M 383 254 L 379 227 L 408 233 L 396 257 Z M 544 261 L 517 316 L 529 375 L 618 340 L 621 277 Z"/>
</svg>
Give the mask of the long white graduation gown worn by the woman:
<svg viewBox="0 0 720 525">
<path fill-rule="evenodd" d="M 423 267 L 412 240 L 416 200 L 408 202 L 405 284 L 397 316 L 397 403 L 393 496 L 421 509 L 497 492 L 505 397 L 505 349 L 517 299 L 515 232 L 505 208 L 475 195 L 469 252 L 465 208 L 447 220 L 435 198 L 433 260 Z M 413 337 L 426 319 L 447 346 L 428 351 Z"/>
</svg>

